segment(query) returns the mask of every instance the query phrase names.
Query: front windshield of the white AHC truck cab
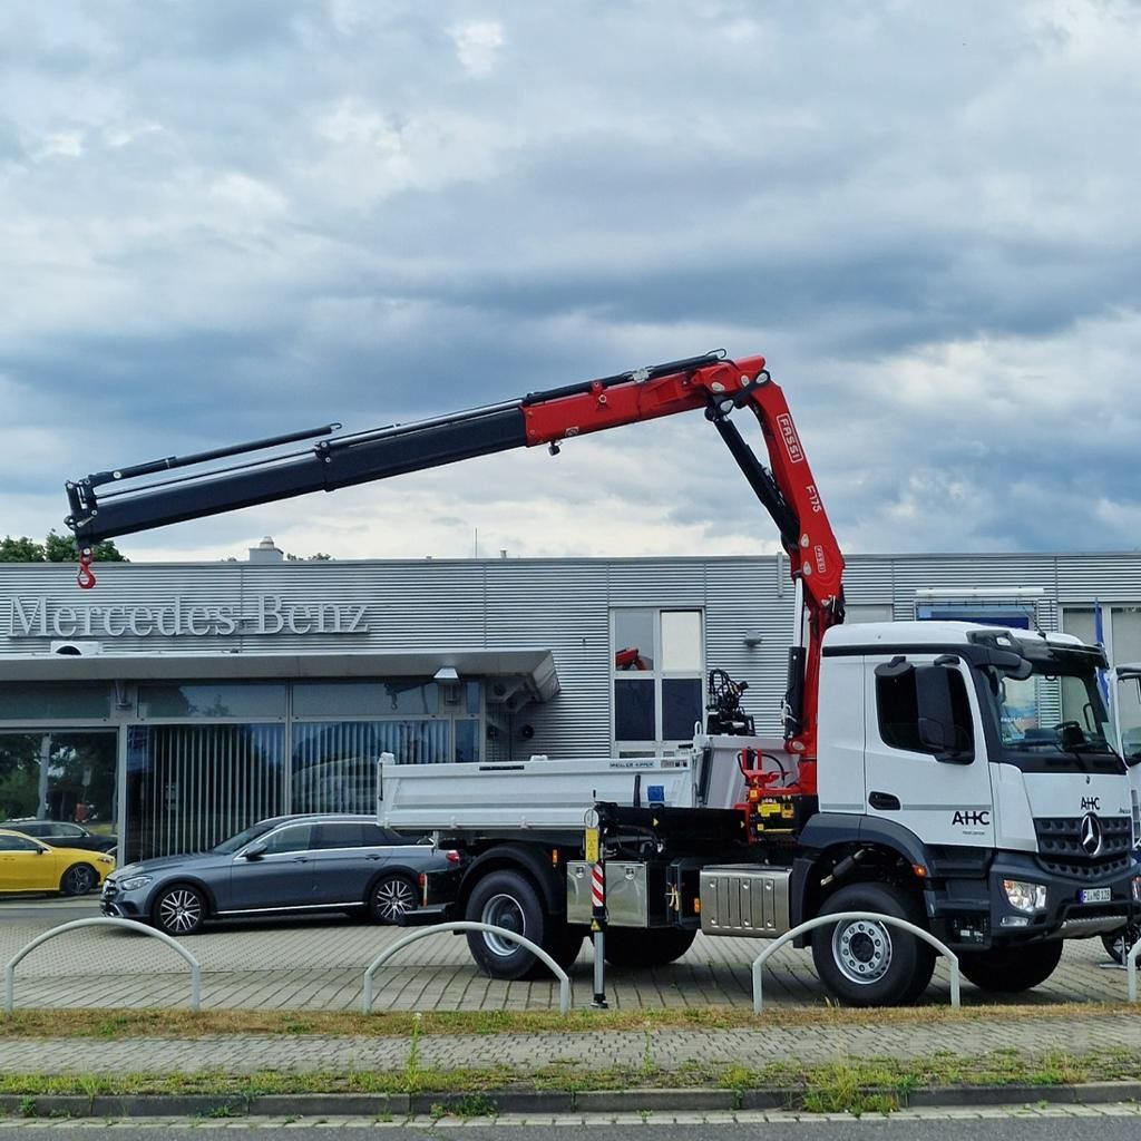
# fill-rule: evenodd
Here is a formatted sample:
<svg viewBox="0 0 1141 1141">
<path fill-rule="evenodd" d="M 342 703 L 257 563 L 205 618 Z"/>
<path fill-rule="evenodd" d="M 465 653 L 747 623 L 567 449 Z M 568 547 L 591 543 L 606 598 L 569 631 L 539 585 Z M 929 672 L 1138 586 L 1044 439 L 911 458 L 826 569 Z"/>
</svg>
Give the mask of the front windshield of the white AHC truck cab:
<svg viewBox="0 0 1141 1141">
<path fill-rule="evenodd" d="M 1095 670 L 1061 673 L 1057 662 L 1035 662 L 1034 672 L 1025 681 L 994 667 L 987 669 L 986 675 L 1003 752 L 1044 761 L 1081 759 L 1087 769 L 1120 768 Z M 1039 706 L 1043 678 L 1061 682 L 1061 717 Z"/>
</svg>

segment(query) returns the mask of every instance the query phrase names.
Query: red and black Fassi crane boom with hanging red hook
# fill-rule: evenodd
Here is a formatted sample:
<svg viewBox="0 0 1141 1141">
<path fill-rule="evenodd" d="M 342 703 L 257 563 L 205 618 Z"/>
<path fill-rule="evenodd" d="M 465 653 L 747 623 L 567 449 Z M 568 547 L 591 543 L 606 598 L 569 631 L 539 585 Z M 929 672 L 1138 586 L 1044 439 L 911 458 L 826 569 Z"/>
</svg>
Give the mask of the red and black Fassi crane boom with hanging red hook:
<svg viewBox="0 0 1141 1141">
<path fill-rule="evenodd" d="M 742 408 L 760 423 L 768 468 L 730 419 Z M 733 361 L 711 353 L 415 423 L 341 436 L 334 435 L 340 424 L 325 424 L 194 455 L 92 472 L 66 484 L 71 513 L 65 521 L 81 551 L 80 585 L 94 585 L 91 549 L 100 540 L 517 447 L 545 444 L 557 453 L 563 440 L 576 436 L 689 411 L 703 411 L 717 428 L 776 523 L 792 577 L 802 588 L 800 629 L 804 642 L 794 646 L 790 656 L 785 737 L 790 751 L 811 761 L 816 756 L 820 641 L 828 626 L 843 621 L 843 557 L 784 394 L 772 382 L 761 356 Z M 299 452 L 245 459 L 230 467 L 141 486 L 114 486 L 304 439 L 316 443 Z M 113 489 L 99 491 L 108 485 Z"/>
</svg>

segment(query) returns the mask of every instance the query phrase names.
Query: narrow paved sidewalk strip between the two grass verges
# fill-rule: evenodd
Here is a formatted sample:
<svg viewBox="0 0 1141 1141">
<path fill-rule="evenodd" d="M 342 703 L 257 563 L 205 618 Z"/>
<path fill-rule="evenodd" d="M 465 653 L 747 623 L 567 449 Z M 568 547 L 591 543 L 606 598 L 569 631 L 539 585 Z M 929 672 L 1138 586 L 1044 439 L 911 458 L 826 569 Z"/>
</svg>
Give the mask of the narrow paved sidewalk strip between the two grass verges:
<svg viewBox="0 0 1141 1141">
<path fill-rule="evenodd" d="M 759 1027 L 733 1030 L 655 1029 L 548 1034 L 422 1035 L 422 1069 L 534 1070 L 566 1067 L 590 1071 L 652 1063 L 665 1070 L 709 1065 L 820 1065 L 855 1058 L 978 1055 L 1017 1050 L 1041 1055 L 1059 1050 L 1141 1051 L 1141 1017 L 1020 1018 L 901 1026 Z M 167 1074 L 220 1070 L 399 1071 L 411 1039 L 332 1035 L 207 1035 L 200 1038 L 127 1037 L 0 1039 L 0 1073 Z"/>
</svg>

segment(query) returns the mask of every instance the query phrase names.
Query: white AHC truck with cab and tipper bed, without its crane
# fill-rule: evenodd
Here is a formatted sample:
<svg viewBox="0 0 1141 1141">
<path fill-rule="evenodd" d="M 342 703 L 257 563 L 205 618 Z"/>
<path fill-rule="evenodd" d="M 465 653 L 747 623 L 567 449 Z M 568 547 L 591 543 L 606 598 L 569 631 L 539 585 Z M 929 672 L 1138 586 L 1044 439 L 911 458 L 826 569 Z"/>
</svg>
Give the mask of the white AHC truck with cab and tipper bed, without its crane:
<svg viewBox="0 0 1141 1141">
<path fill-rule="evenodd" d="M 816 915 L 868 911 L 920 924 L 976 985 L 1046 979 L 1062 941 L 1120 928 L 1136 908 L 1134 822 L 1109 744 L 1097 647 L 1066 634 L 900 622 L 835 626 L 824 639 L 818 803 L 800 816 L 783 742 L 698 736 L 677 761 L 536 759 L 382 764 L 380 817 L 431 831 L 468 857 L 453 917 L 519 931 L 574 960 L 591 923 L 584 819 L 598 811 L 606 954 L 657 965 L 707 936 L 772 938 Z M 1083 720 L 1039 723 L 1035 695 L 1084 697 Z M 776 779 L 754 834 L 734 808 L 738 763 Z M 518 945 L 468 936 L 496 978 L 541 969 Z M 852 1004 L 909 1002 L 930 947 L 888 924 L 810 936 L 830 992 Z"/>
</svg>

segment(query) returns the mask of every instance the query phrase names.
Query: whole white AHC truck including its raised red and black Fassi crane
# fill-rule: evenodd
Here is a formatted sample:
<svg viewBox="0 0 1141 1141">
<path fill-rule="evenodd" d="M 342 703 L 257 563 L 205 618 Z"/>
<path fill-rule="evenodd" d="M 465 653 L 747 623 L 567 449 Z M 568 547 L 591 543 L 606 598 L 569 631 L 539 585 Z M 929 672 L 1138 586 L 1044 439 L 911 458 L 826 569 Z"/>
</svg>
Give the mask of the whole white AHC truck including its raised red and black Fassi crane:
<svg viewBox="0 0 1141 1141">
<path fill-rule="evenodd" d="M 754 736 L 738 690 L 721 685 L 707 735 L 679 760 L 385 766 L 383 823 L 467 857 L 452 912 L 563 963 L 597 924 L 606 958 L 630 965 L 678 958 L 699 930 L 764 938 L 840 911 L 882 913 L 926 928 L 994 990 L 1036 986 L 1065 939 L 1132 922 L 1141 880 L 1130 778 L 1098 689 L 1102 650 L 986 625 L 844 626 L 843 557 L 760 356 L 706 354 L 411 424 L 345 436 L 327 424 L 94 472 L 66 485 L 79 582 L 95 585 L 103 539 L 515 447 L 558 454 L 589 432 L 689 411 L 717 429 L 788 556 L 799 622 L 783 736 Z M 736 412 L 755 418 L 769 467 Z M 248 458 L 310 437 L 304 452 Z M 168 476 L 228 456 L 241 459 Z M 737 500 L 727 491 L 710 510 Z M 1077 719 L 1044 712 L 1060 709 Z M 496 978 L 541 969 L 502 937 L 469 944 Z M 867 920 L 818 928 L 811 948 L 828 989 L 856 1004 L 909 1002 L 933 968 L 928 944 Z"/>
</svg>

